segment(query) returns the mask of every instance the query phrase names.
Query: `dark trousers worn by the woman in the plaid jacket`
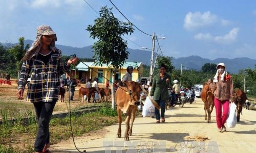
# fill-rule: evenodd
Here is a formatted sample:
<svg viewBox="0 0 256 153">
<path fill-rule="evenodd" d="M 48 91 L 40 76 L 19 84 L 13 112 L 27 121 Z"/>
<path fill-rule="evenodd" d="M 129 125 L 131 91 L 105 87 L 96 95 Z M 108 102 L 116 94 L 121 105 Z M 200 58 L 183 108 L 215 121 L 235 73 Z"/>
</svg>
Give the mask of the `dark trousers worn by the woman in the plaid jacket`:
<svg viewBox="0 0 256 153">
<path fill-rule="evenodd" d="M 56 101 L 50 103 L 37 102 L 33 104 L 38 120 L 38 131 L 34 143 L 34 150 L 41 152 L 45 144 L 50 142 L 49 122 Z"/>
</svg>

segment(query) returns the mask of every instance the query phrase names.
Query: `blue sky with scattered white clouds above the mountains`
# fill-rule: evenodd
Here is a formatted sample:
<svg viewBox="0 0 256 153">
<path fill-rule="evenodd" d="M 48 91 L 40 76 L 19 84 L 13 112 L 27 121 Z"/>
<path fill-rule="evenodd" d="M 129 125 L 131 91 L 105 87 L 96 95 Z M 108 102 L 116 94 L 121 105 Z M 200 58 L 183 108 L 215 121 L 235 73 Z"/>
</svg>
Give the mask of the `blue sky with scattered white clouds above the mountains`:
<svg viewBox="0 0 256 153">
<path fill-rule="evenodd" d="M 159 55 L 256 59 L 254 0 L 0 0 L 0 4 L 1 43 L 16 43 L 20 37 L 34 40 L 36 28 L 48 24 L 57 34 L 56 44 L 93 45 L 97 40 L 86 29 L 106 6 L 113 8 L 118 20 L 136 26 L 132 35 L 123 37 L 128 48 L 152 51 L 155 33 L 154 50 Z"/>
</svg>

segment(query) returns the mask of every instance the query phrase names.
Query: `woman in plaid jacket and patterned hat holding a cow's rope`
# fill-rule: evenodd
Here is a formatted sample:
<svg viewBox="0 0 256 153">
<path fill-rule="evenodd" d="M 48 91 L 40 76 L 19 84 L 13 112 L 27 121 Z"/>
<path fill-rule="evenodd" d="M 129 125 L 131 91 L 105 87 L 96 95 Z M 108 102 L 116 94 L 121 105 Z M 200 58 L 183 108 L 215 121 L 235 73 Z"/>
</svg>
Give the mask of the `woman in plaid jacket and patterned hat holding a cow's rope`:
<svg viewBox="0 0 256 153">
<path fill-rule="evenodd" d="M 36 40 L 22 59 L 17 96 L 18 99 L 24 98 L 26 81 L 30 75 L 26 101 L 33 103 L 38 119 L 34 150 L 40 153 L 48 151 L 50 146 L 49 122 L 58 100 L 59 77 L 69 70 L 71 64 L 76 64 L 78 58 L 62 63 L 61 51 L 55 47 L 55 32 L 49 25 L 41 25 L 36 30 Z"/>
</svg>

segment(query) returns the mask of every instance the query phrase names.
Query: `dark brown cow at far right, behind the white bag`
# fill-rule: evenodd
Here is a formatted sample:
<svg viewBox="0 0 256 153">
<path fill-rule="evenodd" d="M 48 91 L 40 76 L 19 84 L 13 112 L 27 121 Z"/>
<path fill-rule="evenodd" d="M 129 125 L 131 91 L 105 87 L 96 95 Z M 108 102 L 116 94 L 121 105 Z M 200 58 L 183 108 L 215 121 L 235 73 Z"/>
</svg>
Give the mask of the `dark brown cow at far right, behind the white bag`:
<svg viewBox="0 0 256 153">
<path fill-rule="evenodd" d="M 237 121 L 240 121 L 240 113 L 242 114 L 243 106 L 245 105 L 246 101 L 246 93 L 241 90 L 237 89 L 234 93 L 234 104 L 237 105 Z"/>
</svg>

